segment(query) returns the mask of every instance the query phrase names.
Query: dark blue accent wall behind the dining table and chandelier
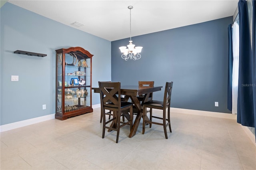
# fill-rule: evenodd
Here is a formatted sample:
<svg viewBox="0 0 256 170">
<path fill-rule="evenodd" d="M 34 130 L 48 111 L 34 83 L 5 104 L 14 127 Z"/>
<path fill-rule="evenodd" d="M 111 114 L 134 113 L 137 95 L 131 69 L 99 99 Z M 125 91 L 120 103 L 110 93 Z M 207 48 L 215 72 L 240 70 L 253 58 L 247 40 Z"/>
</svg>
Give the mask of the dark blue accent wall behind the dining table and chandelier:
<svg viewBox="0 0 256 170">
<path fill-rule="evenodd" d="M 173 81 L 171 107 L 230 113 L 227 109 L 228 25 L 232 16 L 162 32 L 132 37 L 142 46 L 139 60 L 124 61 L 118 47 L 129 38 L 111 42 L 112 81 L 123 85 Z M 164 91 L 154 93 L 162 100 Z M 219 107 L 214 102 L 219 102 Z"/>
</svg>

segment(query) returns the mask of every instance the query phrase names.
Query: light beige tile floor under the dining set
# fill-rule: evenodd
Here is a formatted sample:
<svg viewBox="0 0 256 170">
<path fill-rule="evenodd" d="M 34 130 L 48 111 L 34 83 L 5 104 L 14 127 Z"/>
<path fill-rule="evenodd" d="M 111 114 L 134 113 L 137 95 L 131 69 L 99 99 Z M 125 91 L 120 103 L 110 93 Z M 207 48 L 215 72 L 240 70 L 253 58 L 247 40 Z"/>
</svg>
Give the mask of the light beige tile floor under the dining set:
<svg viewBox="0 0 256 170">
<path fill-rule="evenodd" d="M 161 113 L 154 110 L 154 113 Z M 172 133 L 142 123 L 102 139 L 100 108 L 65 121 L 52 119 L 0 133 L 1 170 L 175 169 L 255 170 L 256 147 L 233 119 L 171 114 Z"/>
</svg>

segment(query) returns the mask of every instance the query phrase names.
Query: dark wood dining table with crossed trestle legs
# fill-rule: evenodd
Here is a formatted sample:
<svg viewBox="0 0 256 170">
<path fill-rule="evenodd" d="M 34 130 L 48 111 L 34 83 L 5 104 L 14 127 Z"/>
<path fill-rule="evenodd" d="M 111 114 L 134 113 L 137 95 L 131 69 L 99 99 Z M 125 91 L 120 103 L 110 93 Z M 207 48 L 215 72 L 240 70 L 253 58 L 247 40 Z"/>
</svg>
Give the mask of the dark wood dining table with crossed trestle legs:
<svg viewBox="0 0 256 170">
<path fill-rule="evenodd" d="M 137 131 L 138 126 L 140 124 L 140 120 L 141 120 L 142 114 L 143 114 L 143 103 L 144 103 L 144 101 L 147 101 L 150 93 L 160 91 L 161 88 L 162 88 L 162 86 L 153 86 L 153 87 L 142 86 L 142 87 L 139 87 L 139 85 L 121 85 L 121 95 L 125 95 L 124 96 L 124 101 L 128 101 L 130 99 L 132 101 L 132 103 L 134 104 L 134 107 L 135 107 L 135 109 L 133 109 L 134 110 L 133 112 L 136 113 L 136 118 L 134 120 L 134 123 L 132 125 L 132 129 L 131 129 L 130 134 L 129 134 L 130 138 L 136 134 L 136 131 Z M 92 87 L 92 90 L 94 90 L 94 93 L 100 93 L 99 87 Z M 139 96 L 139 95 L 144 96 L 142 101 L 138 100 L 137 96 Z M 128 116 L 126 116 L 126 118 L 128 118 Z M 148 117 L 145 117 L 145 119 L 148 119 Z"/>
</svg>

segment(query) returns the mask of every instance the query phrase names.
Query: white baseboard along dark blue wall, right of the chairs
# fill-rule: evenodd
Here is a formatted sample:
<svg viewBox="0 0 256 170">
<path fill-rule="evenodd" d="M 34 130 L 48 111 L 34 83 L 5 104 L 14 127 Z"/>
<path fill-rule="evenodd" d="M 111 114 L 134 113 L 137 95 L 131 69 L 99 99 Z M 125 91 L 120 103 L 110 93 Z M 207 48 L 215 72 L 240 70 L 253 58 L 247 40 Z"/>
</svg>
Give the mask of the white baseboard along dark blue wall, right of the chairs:
<svg viewBox="0 0 256 170">
<path fill-rule="evenodd" d="M 200 116 L 219 117 L 219 118 L 226 118 L 226 119 L 236 119 L 236 114 L 230 114 L 230 113 L 198 111 L 198 110 L 180 109 L 180 108 L 174 108 L 174 107 L 171 107 L 171 112 L 200 115 Z"/>
</svg>

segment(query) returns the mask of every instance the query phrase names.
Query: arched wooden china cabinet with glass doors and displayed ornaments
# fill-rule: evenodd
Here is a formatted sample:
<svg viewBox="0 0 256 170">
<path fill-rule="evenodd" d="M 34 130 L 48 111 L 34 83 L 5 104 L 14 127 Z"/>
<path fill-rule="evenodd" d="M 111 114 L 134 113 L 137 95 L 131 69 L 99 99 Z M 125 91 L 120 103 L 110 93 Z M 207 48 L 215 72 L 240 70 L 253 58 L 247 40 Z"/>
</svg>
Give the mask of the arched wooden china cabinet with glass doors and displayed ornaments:
<svg viewBox="0 0 256 170">
<path fill-rule="evenodd" d="M 92 109 L 92 54 L 82 47 L 56 51 L 56 114 L 68 119 Z"/>
</svg>

